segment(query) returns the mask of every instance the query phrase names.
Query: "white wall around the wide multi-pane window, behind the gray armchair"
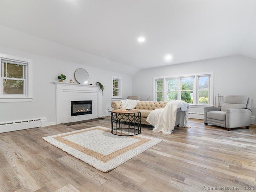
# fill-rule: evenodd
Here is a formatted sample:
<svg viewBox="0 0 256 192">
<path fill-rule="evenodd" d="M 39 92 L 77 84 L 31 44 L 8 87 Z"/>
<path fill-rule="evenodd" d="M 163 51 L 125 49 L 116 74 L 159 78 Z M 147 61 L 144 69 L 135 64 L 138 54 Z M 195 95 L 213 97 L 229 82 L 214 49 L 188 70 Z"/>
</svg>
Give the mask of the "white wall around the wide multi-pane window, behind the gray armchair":
<svg viewBox="0 0 256 192">
<path fill-rule="evenodd" d="M 252 116 L 256 116 L 256 60 L 245 56 L 230 56 L 140 70 L 133 76 L 133 95 L 142 99 L 153 96 L 153 77 L 214 71 L 214 97 L 218 94 L 247 95 L 254 100 Z M 190 108 L 202 112 L 202 108 Z"/>
</svg>

